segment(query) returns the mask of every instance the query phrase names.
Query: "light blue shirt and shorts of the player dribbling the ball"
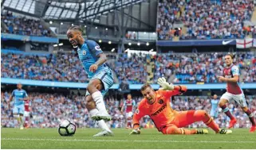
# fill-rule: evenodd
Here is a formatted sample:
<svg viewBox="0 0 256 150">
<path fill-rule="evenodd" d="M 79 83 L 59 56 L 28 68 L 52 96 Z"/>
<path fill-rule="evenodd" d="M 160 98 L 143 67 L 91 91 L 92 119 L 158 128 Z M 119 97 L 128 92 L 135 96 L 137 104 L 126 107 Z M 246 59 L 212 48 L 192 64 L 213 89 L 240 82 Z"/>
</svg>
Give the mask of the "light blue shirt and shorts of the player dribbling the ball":
<svg viewBox="0 0 256 150">
<path fill-rule="evenodd" d="M 100 91 L 104 96 L 114 83 L 112 70 L 107 66 L 107 64 L 103 63 L 98 66 L 95 72 L 89 71 L 91 65 L 99 60 L 98 56 L 103 53 L 99 44 L 93 40 L 85 40 L 85 43 L 81 45 L 81 48 L 77 49 L 77 53 L 89 79 L 100 79 L 100 81 L 104 84 L 104 89 Z M 88 91 L 86 91 L 85 96 L 87 95 L 89 95 Z"/>
</svg>

